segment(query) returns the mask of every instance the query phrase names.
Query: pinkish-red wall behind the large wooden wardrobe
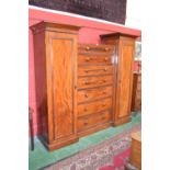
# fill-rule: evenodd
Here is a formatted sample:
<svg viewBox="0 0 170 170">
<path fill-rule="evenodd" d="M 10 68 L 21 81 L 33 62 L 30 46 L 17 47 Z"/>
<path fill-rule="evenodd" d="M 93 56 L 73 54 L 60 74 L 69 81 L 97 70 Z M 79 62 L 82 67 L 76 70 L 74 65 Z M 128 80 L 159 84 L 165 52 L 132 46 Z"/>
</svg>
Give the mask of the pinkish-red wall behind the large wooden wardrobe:
<svg viewBox="0 0 170 170">
<path fill-rule="evenodd" d="M 140 36 L 140 31 L 127 29 L 120 25 L 101 23 L 98 21 L 91 21 L 88 19 L 79 19 L 76 16 L 68 16 L 58 13 L 52 13 L 35 9 L 29 9 L 29 25 L 33 25 L 41 21 L 57 22 L 65 24 L 72 24 L 81 26 L 79 31 L 79 43 L 100 43 L 100 34 L 122 32 Z M 33 107 L 33 128 L 34 135 L 37 134 L 37 114 L 36 114 L 36 101 L 35 101 L 35 75 L 34 75 L 34 49 L 33 49 L 33 35 L 29 30 L 29 105 Z"/>
</svg>

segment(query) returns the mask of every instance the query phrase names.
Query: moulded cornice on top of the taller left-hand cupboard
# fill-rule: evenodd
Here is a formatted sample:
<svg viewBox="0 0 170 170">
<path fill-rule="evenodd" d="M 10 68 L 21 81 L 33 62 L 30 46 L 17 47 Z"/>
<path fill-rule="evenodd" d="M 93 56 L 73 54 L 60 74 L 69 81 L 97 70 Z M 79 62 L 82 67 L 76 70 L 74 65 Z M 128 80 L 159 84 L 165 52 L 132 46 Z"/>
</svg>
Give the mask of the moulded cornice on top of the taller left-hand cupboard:
<svg viewBox="0 0 170 170">
<path fill-rule="evenodd" d="M 38 33 L 39 31 L 44 31 L 44 30 L 45 31 L 63 30 L 63 31 L 67 31 L 67 32 L 69 31 L 72 33 L 77 33 L 79 31 L 80 26 L 42 21 L 35 25 L 32 25 L 30 29 L 32 30 L 32 32 L 34 34 Z"/>
</svg>

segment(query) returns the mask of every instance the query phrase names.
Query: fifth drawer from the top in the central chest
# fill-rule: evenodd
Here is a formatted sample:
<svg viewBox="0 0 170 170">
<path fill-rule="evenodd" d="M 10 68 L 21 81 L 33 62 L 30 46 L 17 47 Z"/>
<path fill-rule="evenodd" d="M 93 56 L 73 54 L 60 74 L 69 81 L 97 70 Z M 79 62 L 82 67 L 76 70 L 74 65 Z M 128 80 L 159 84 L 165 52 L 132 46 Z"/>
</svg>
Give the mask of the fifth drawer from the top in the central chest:
<svg viewBox="0 0 170 170">
<path fill-rule="evenodd" d="M 88 102 L 91 100 L 97 100 L 101 98 L 106 98 L 112 95 L 112 87 L 98 87 L 95 89 L 86 89 L 78 91 L 78 102 Z"/>
</svg>

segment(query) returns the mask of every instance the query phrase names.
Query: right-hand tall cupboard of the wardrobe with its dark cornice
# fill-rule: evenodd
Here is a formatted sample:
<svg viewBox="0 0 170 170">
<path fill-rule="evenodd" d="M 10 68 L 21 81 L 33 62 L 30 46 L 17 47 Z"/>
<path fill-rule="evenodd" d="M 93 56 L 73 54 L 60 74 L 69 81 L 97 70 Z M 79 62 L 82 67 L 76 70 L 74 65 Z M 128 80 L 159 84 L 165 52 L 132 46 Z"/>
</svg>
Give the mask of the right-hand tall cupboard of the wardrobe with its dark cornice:
<svg viewBox="0 0 170 170">
<path fill-rule="evenodd" d="M 113 124 L 120 125 L 131 121 L 135 37 L 116 33 L 101 35 L 101 39 L 102 43 L 113 44 L 116 47 L 114 56 L 116 90 Z"/>
</svg>

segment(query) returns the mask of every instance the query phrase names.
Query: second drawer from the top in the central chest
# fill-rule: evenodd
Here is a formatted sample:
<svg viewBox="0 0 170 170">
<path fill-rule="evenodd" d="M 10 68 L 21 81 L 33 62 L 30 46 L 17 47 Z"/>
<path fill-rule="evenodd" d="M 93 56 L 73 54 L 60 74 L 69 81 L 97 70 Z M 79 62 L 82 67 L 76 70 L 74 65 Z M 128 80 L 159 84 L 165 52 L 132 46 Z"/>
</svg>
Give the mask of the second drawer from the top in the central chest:
<svg viewBox="0 0 170 170">
<path fill-rule="evenodd" d="M 111 55 L 79 55 L 78 65 L 110 65 Z"/>
</svg>

